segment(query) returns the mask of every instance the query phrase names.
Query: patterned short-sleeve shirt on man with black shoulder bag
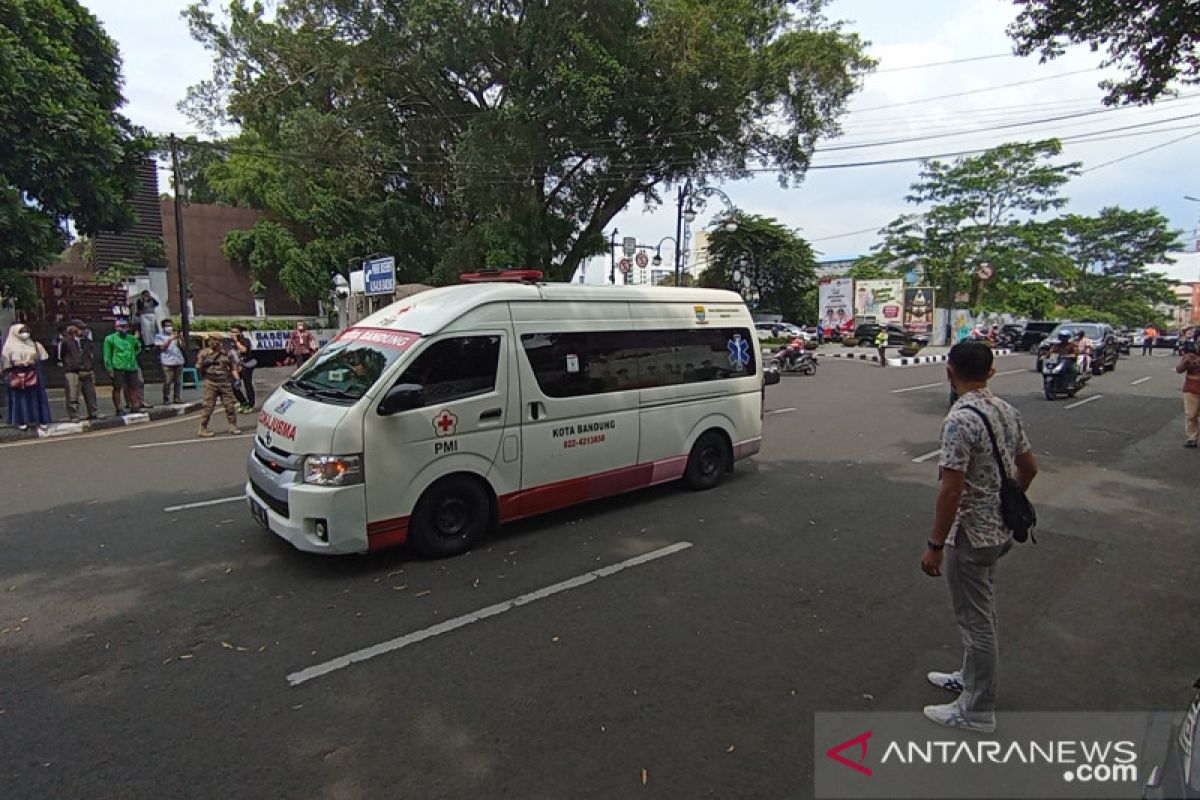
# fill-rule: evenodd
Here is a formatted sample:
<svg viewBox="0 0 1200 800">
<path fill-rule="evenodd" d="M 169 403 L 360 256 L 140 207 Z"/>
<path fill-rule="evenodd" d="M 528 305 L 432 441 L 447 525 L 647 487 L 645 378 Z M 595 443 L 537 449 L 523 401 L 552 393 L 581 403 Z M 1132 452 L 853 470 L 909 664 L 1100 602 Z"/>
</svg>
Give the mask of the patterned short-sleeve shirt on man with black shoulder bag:
<svg viewBox="0 0 1200 800">
<path fill-rule="evenodd" d="M 967 410 L 967 405 L 988 415 L 1009 475 L 1016 473 L 1016 456 L 1028 452 L 1030 440 L 1025 435 L 1020 413 L 988 389 L 960 397 L 942 422 L 938 465 L 966 474 L 959 513 L 947 542 L 954 545 L 961 530 L 966 531 L 972 547 L 995 547 L 1009 537 L 1000 516 L 1000 470 L 991 453 L 988 428 L 978 414 Z"/>
</svg>

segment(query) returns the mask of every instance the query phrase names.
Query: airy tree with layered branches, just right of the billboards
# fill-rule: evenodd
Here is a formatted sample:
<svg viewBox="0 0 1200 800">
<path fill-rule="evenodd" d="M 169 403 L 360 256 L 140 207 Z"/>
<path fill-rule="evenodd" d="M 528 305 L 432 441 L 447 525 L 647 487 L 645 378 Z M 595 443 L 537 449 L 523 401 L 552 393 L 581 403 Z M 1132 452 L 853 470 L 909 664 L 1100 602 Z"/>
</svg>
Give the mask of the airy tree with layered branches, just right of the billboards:
<svg viewBox="0 0 1200 800">
<path fill-rule="evenodd" d="M 1078 163 L 1054 163 L 1056 139 L 1010 143 L 950 163 L 929 161 L 906 198 L 930 204 L 881 231 L 868 264 L 916 270 L 946 307 L 966 294 L 983 307 L 994 287 L 1057 275 L 1066 269 L 1057 230 L 1034 217 L 1062 207 L 1061 187 Z M 979 277 L 988 264 L 990 279 Z"/>
</svg>

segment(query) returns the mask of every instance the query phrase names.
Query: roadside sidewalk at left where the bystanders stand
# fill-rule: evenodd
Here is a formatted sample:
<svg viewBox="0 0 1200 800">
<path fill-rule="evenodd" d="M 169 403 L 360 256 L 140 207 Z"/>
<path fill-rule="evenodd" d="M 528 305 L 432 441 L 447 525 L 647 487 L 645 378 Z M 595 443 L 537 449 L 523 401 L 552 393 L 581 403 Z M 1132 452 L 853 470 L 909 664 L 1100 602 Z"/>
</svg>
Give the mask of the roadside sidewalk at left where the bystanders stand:
<svg viewBox="0 0 1200 800">
<path fill-rule="evenodd" d="M 289 374 L 292 374 L 290 367 L 264 367 L 254 372 L 254 391 L 258 395 L 257 399 L 259 407 L 262 407 L 262 404 L 266 401 L 266 397 L 274 392 L 280 384 L 287 380 Z M 113 414 L 112 390 L 108 386 L 100 386 L 97 389 L 96 401 L 100 405 L 100 413 L 107 415 L 103 419 L 83 422 L 52 422 L 47 426 L 44 432 L 37 431 L 36 428 L 18 431 L 7 423 L 7 408 L 4 408 L 4 415 L 0 416 L 0 420 L 5 420 L 4 422 L 0 422 L 0 443 L 19 441 L 23 439 L 68 437 L 80 433 L 92 433 L 95 431 L 107 431 L 131 425 L 144 425 L 146 422 L 169 420 L 176 416 L 194 414 L 200 410 L 200 399 L 203 396 L 203 391 L 199 389 L 185 389 L 180 393 L 180 399 L 182 401 L 181 403 L 178 405 L 162 405 L 162 384 L 148 384 L 145 387 L 145 402 L 152 403 L 154 408 L 138 414 L 115 416 Z M 50 397 L 50 419 L 66 420 L 66 395 L 64 390 L 52 389 L 48 393 Z M 88 413 L 82 399 L 79 401 L 79 407 L 80 414 Z M 217 410 L 220 411 L 220 408 Z"/>
</svg>

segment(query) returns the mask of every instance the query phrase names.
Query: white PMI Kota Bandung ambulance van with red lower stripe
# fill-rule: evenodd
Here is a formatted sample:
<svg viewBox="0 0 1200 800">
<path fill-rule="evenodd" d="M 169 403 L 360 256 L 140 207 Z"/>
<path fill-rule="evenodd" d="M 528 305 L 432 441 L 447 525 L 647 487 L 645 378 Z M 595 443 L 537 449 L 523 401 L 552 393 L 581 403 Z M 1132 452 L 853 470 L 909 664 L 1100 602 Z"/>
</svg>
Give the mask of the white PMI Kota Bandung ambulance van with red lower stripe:
<svg viewBox="0 0 1200 800">
<path fill-rule="evenodd" d="M 251 513 L 301 551 L 444 557 L 498 522 L 666 481 L 710 488 L 760 447 L 756 343 L 731 291 L 424 291 L 342 331 L 266 401 Z"/>
</svg>

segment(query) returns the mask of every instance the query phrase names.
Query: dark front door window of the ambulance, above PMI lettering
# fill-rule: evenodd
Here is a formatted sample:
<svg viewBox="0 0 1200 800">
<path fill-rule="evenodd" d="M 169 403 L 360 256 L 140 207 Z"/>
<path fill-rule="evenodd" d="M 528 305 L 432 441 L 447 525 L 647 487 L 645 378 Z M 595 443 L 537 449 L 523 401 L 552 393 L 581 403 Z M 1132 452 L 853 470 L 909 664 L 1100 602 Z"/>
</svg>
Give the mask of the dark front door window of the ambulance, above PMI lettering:
<svg viewBox="0 0 1200 800">
<path fill-rule="evenodd" d="M 425 404 L 440 405 L 493 391 L 499 362 L 499 336 L 460 336 L 427 347 L 396 383 L 424 386 Z"/>
</svg>

